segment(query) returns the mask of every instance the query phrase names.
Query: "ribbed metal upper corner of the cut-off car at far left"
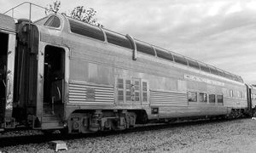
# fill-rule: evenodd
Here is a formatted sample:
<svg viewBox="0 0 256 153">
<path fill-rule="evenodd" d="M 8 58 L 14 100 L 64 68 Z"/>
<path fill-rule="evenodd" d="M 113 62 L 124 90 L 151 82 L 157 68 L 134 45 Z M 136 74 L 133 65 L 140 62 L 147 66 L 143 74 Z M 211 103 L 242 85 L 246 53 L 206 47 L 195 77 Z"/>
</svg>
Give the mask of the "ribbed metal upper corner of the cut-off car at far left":
<svg viewBox="0 0 256 153">
<path fill-rule="evenodd" d="M 0 29 L 15 31 L 15 20 L 8 15 L 0 14 Z"/>
</svg>

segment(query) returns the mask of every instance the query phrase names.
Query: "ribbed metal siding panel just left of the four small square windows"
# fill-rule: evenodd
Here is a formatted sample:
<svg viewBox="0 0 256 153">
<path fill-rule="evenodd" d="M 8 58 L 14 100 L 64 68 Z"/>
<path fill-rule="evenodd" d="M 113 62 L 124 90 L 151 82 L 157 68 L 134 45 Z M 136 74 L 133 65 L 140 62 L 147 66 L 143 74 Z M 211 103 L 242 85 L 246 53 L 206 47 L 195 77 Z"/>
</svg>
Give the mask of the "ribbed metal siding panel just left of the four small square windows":
<svg viewBox="0 0 256 153">
<path fill-rule="evenodd" d="M 186 93 L 150 90 L 150 106 L 187 106 Z"/>
</svg>

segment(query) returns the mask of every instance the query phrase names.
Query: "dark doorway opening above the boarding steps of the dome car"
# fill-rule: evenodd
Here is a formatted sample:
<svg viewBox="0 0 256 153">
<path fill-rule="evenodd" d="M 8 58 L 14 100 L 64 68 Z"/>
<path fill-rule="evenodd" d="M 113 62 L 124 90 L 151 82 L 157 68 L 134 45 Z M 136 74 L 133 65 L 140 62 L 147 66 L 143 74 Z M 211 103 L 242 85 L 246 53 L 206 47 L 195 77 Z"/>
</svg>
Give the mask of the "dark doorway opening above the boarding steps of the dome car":
<svg viewBox="0 0 256 153">
<path fill-rule="evenodd" d="M 65 50 L 46 46 L 44 50 L 44 115 L 63 116 Z"/>
</svg>

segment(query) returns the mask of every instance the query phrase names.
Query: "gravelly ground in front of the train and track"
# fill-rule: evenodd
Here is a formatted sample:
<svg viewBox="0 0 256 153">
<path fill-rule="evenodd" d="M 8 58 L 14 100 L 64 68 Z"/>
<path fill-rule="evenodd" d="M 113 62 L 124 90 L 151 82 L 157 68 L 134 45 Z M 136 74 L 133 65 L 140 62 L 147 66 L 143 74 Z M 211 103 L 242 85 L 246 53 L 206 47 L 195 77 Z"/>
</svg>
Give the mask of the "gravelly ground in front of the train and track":
<svg viewBox="0 0 256 153">
<path fill-rule="evenodd" d="M 256 121 L 170 126 L 158 130 L 66 140 L 59 152 L 256 152 Z M 54 152 L 49 143 L 0 148 L 2 152 Z"/>
</svg>

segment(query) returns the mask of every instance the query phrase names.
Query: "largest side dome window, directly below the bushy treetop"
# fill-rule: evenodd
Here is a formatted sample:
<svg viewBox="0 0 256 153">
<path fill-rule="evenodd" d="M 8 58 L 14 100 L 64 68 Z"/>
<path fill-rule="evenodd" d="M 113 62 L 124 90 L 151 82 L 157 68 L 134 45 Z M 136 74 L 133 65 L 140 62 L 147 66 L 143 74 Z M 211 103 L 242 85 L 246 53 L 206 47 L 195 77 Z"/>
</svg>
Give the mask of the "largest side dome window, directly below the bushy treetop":
<svg viewBox="0 0 256 153">
<path fill-rule="evenodd" d="M 69 20 L 69 23 L 70 30 L 73 33 L 104 41 L 104 34 L 100 28 L 91 26 L 89 24 L 84 24 L 83 22 L 77 20 Z"/>
</svg>

